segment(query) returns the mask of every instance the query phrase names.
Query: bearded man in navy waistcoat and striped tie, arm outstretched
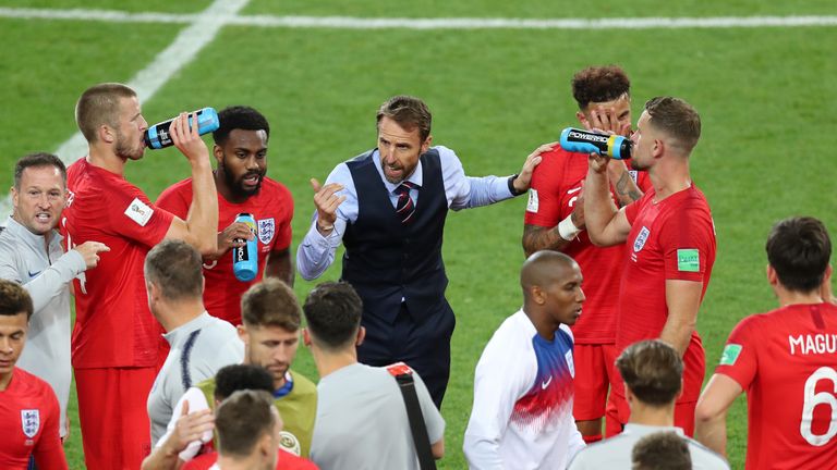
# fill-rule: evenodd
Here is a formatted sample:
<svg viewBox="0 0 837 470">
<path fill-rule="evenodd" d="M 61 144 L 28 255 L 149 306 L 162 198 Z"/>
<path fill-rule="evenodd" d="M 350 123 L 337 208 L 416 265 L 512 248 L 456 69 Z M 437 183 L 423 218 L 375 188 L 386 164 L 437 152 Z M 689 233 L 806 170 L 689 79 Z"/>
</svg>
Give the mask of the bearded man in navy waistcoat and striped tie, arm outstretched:
<svg viewBox="0 0 837 470">
<path fill-rule="evenodd" d="M 448 210 L 524 194 L 538 154 L 553 145 L 531 153 L 520 174 L 472 177 L 453 150 L 430 146 L 432 115 L 421 99 L 388 99 L 376 123 L 376 148 L 337 165 L 322 187 L 312 180 L 316 212 L 296 268 L 305 280 L 319 277 L 342 243 L 342 280 L 363 299 L 359 361 L 407 362 L 441 407 L 456 324 L 441 259 Z"/>
</svg>

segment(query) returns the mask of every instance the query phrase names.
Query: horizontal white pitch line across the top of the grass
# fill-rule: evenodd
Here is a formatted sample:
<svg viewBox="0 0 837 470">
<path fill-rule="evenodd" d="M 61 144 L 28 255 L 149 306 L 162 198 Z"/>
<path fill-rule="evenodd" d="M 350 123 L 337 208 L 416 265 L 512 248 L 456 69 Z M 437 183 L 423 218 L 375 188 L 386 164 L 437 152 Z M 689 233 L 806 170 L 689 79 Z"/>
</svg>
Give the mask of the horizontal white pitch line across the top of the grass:
<svg viewBox="0 0 837 470">
<path fill-rule="evenodd" d="M 194 23 L 203 14 L 130 13 L 117 10 L 57 10 L 0 8 L 0 17 L 25 20 L 100 21 L 110 23 Z M 611 17 L 611 18 L 502 18 L 502 17 L 355 17 L 250 15 L 225 18 L 240 26 L 335 29 L 671 29 L 733 27 L 837 26 L 835 15 Z"/>
</svg>

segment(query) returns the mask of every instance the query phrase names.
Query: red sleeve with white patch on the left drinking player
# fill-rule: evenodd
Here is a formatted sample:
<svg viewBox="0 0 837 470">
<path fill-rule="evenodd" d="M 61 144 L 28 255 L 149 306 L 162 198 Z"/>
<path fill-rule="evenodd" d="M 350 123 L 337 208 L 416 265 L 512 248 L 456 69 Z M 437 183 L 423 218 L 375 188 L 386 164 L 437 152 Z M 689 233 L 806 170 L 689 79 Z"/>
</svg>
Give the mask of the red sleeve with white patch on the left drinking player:
<svg viewBox="0 0 837 470">
<path fill-rule="evenodd" d="M 110 189 L 110 228 L 147 247 L 160 243 L 174 215 L 151 203 L 140 188 L 128 182 Z"/>
</svg>

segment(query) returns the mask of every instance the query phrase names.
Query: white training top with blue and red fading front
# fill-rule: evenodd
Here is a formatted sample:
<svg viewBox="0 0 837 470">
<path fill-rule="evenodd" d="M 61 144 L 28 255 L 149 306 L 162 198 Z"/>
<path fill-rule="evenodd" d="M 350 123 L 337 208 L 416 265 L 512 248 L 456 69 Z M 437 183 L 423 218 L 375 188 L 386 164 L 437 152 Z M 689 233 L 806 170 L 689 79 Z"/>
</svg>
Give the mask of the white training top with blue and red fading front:
<svg viewBox="0 0 837 470">
<path fill-rule="evenodd" d="M 572 418 L 572 333 L 537 334 L 519 310 L 476 364 L 464 452 L 472 469 L 563 469 L 584 447 Z"/>
</svg>

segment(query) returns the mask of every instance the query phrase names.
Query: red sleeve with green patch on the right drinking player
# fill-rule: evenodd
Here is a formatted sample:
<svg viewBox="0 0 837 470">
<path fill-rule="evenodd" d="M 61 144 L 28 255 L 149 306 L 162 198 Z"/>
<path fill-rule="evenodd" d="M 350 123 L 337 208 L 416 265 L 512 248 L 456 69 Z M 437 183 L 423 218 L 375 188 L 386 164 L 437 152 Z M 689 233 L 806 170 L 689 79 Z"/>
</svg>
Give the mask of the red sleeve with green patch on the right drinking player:
<svg viewBox="0 0 837 470">
<path fill-rule="evenodd" d="M 705 226 L 700 210 L 674 210 L 659 234 L 665 276 L 667 280 L 703 282 L 707 258 L 713 250 L 712 227 Z"/>
</svg>

